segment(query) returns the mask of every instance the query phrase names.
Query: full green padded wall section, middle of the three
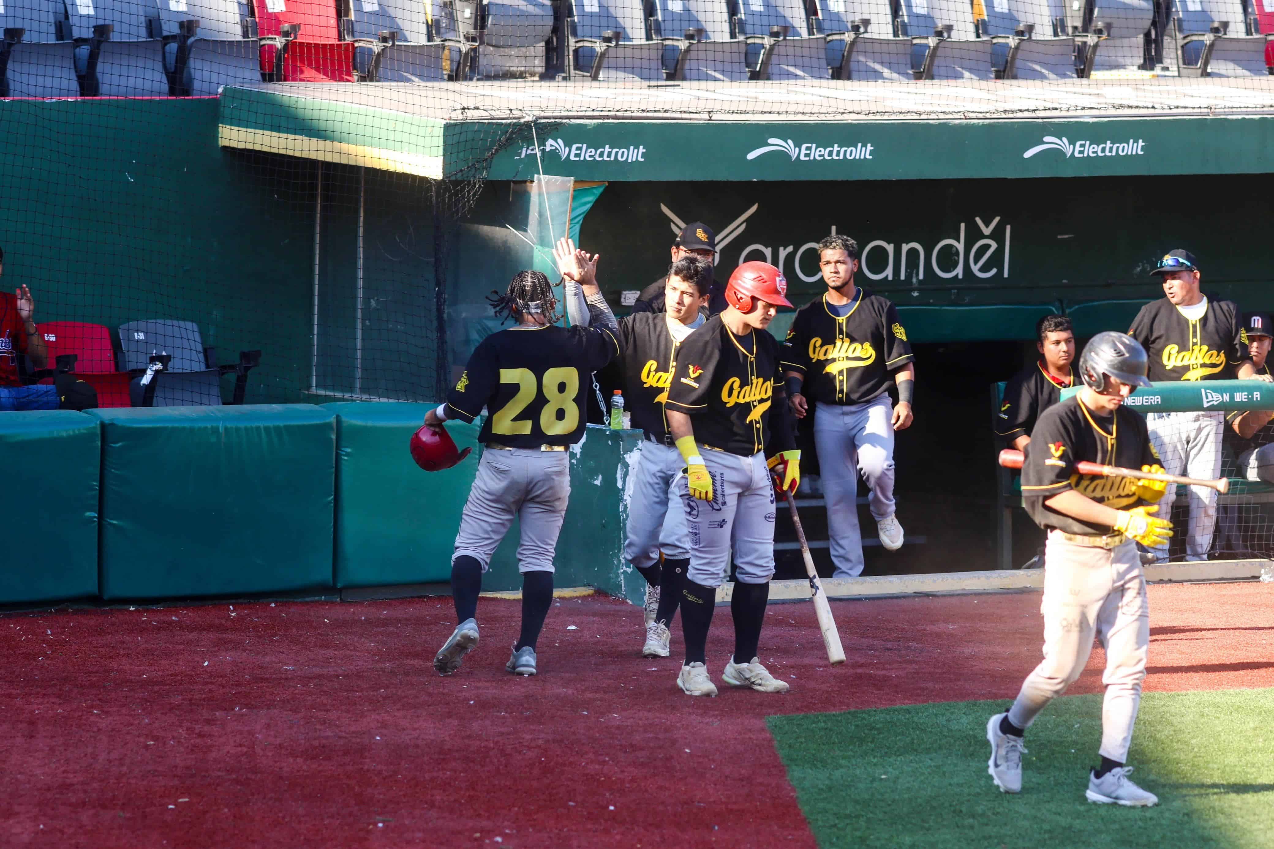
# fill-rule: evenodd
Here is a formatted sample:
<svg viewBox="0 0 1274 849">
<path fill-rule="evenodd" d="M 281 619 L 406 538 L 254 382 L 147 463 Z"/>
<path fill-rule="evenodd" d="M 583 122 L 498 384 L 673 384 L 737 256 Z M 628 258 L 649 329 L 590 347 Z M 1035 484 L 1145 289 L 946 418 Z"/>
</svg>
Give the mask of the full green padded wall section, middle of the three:
<svg viewBox="0 0 1274 849">
<path fill-rule="evenodd" d="M 94 410 L 101 593 L 333 586 L 336 423 L 308 405 Z"/>
</svg>

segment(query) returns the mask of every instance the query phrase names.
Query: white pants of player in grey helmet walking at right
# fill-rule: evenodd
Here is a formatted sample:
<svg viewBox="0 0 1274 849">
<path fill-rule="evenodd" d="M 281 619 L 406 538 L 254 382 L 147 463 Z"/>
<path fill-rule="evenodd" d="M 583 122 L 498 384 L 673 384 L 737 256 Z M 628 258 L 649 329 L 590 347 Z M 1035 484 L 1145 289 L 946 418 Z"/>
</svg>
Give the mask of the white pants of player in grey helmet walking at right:
<svg viewBox="0 0 1274 849">
<path fill-rule="evenodd" d="M 1099 751 L 1125 764 L 1150 644 L 1140 555 L 1131 541 L 1101 549 L 1050 531 L 1043 558 L 1043 661 L 1022 684 L 1009 722 L 1028 728 L 1045 705 L 1065 692 L 1084 671 L 1096 636 L 1106 649 Z"/>
</svg>

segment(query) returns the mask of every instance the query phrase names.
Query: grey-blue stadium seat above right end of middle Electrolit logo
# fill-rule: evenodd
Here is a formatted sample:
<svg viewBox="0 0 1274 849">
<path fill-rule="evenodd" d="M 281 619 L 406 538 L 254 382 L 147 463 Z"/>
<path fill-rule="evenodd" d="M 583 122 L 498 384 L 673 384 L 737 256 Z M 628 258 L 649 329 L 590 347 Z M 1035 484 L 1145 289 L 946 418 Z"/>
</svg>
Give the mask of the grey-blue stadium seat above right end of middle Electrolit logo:
<svg viewBox="0 0 1274 849">
<path fill-rule="evenodd" d="M 911 39 L 899 38 L 891 0 L 826 0 L 819 32 L 842 80 L 911 80 Z M 833 37 L 838 36 L 838 37 Z"/>
</svg>

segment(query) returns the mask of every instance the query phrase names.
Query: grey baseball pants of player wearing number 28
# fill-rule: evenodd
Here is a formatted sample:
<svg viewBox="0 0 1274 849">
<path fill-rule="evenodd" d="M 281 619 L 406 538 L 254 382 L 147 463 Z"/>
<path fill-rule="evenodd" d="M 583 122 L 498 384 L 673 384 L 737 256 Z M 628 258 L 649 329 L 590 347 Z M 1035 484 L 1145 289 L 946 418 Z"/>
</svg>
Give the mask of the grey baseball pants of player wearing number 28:
<svg viewBox="0 0 1274 849">
<path fill-rule="evenodd" d="M 553 552 L 571 498 L 568 454 L 488 447 L 478 461 L 478 476 L 469 489 L 451 560 L 469 555 L 487 572 L 490 555 L 517 517 L 522 535 L 517 570 L 553 572 Z"/>
</svg>

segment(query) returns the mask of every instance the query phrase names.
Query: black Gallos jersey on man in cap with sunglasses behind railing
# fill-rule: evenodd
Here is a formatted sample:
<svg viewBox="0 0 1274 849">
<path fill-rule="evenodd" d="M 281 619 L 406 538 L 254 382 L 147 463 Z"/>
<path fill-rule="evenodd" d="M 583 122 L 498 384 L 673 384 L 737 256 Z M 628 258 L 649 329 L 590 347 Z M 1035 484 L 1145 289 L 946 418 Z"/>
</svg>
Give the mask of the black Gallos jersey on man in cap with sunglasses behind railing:
<svg viewBox="0 0 1274 849">
<path fill-rule="evenodd" d="M 1150 355 L 1152 381 L 1233 379 L 1247 355 L 1247 331 L 1233 300 L 1208 299 L 1191 321 L 1167 298 L 1142 307 L 1127 335 Z"/>
</svg>

